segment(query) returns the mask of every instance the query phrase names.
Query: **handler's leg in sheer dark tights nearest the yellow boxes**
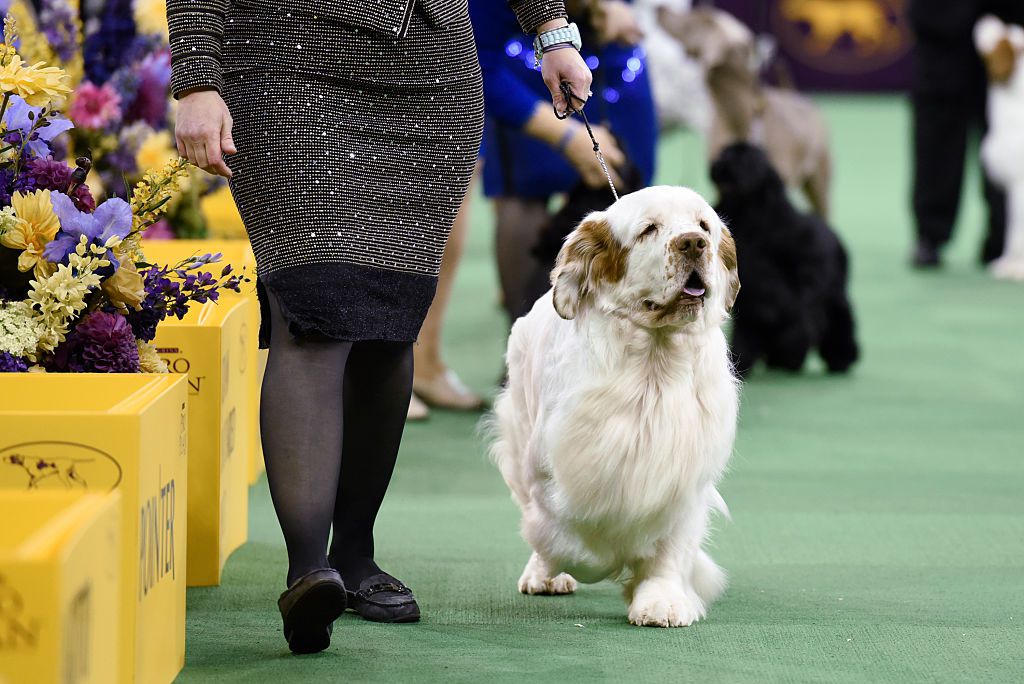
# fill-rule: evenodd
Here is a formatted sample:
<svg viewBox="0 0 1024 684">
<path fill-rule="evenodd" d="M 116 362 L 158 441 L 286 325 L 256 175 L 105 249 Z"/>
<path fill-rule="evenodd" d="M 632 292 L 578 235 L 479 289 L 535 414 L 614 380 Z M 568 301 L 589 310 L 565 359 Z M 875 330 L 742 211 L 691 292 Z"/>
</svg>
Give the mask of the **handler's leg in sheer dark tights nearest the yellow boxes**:
<svg viewBox="0 0 1024 684">
<path fill-rule="evenodd" d="M 350 342 L 298 340 L 270 305 L 270 353 L 260 431 L 266 476 L 288 546 L 288 584 L 329 567 L 328 538 L 341 470 L 345 366 Z"/>
</svg>

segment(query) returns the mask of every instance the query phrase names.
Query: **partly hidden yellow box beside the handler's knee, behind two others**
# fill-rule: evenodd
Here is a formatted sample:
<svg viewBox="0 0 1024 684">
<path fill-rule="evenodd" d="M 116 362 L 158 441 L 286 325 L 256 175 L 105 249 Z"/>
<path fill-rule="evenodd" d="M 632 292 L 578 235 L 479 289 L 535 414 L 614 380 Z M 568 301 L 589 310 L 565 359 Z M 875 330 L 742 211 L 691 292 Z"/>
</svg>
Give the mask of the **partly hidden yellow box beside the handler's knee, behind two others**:
<svg viewBox="0 0 1024 684">
<path fill-rule="evenodd" d="M 237 272 L 244 272 L 252 282 L 242 286 L 242 294 L 225 292 L 225 299 L 245 297 L 250 302 L 249 320 L 246 323 L 246 353 L 249 365 L 246 375 L 249 390 L 249 483 L 254 484 L 264 470 L 263 447 L 259 436 L 259 393 L 266 369 L 266 350 L 259 348 L 259 300 L 256 297 L 256 257 L 248 240 L 150 240 L 142 250 L 152 263 L 177 263 L 182 259 L 202 254 L 224 255 L 221 263 L 231 264 Z M 213 268 L 214 270 L 216 267 Z M 219 271 L 218 271 L 219 272 Z M 255 371 L 250 372 L 250 369 Z"/>
</svg>

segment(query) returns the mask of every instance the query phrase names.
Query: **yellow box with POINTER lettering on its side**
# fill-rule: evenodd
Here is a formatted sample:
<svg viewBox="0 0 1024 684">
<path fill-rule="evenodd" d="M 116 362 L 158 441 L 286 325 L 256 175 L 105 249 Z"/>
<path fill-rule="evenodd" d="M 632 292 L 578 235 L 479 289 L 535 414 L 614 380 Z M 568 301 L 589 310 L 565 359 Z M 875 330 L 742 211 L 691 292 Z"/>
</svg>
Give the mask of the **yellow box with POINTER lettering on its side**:
<svg viewBox="0 0 1024 684">
<path fill-rule="evenodd" d="M 169 682 L 184 665 L 187 387 L 168 375 L 0 375 L 0 491 L 121 493 L 123 682 Z"/>
</svg>

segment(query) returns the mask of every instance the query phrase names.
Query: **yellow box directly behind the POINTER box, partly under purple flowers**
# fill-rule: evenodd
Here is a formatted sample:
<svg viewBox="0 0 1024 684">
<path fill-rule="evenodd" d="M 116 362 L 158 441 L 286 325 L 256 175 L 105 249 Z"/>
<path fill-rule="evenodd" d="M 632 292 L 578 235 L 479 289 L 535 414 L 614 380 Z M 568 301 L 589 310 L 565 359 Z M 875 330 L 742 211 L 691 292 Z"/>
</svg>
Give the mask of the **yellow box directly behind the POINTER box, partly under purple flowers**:
<svg viewBox="0 0 1024 684">
<path fill-rule="evenodd" d="M 188 377 L 188 586 L 220 584 L 249 535 L 249 301 L 223 299 L 168 318 L 153 341 Z"/>
</svg>

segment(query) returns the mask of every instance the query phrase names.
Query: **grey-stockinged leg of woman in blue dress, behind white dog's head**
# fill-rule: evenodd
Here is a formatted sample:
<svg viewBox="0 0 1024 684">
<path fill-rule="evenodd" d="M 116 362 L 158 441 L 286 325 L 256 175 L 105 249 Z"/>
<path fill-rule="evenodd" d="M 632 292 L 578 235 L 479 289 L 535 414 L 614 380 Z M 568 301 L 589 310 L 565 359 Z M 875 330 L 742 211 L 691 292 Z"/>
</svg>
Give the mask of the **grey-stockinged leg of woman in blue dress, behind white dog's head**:
<svg viewBox="0 0 1024 684">
<path fill-rule="evenodd" d="M 546 200 L 498 198 L 495 210 L 498 275 L 505 310 L 510 323 L 514 323 L 534 306 L 530 296 L 542 264 L 532 250 L 551 216 Z"/>
</svg>

